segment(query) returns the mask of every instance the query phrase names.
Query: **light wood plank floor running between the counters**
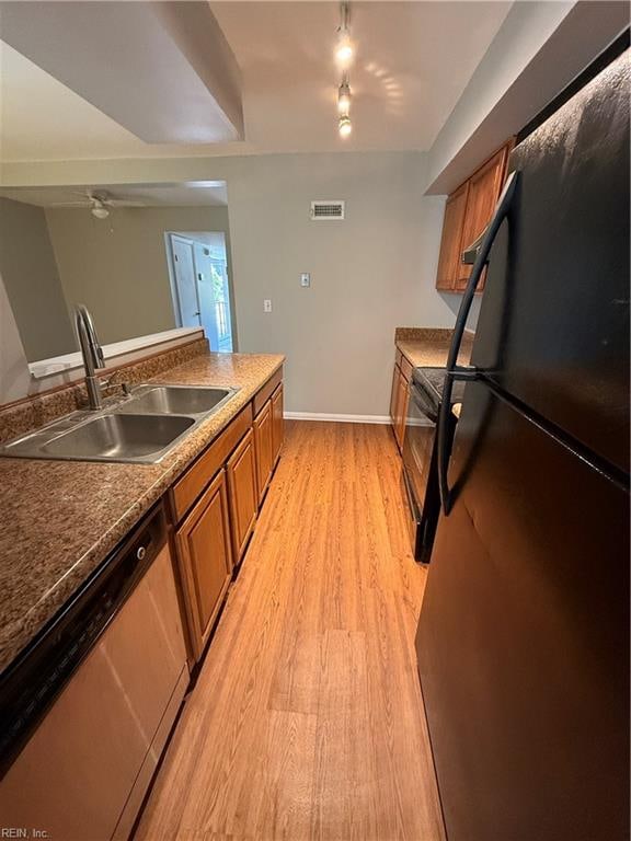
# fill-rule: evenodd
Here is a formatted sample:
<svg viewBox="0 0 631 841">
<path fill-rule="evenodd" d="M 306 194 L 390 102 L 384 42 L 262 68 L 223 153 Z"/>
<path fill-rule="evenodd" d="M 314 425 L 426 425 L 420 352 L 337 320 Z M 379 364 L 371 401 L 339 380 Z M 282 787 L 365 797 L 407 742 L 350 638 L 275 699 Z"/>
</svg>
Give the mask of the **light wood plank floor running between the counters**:
<svg viewBox="0 0 631 841">
<path fill-rule="evenodd" d="M 388 427 L 287 424 L 135 841 L 444 839 L 399 477 Z"/>
</svg>

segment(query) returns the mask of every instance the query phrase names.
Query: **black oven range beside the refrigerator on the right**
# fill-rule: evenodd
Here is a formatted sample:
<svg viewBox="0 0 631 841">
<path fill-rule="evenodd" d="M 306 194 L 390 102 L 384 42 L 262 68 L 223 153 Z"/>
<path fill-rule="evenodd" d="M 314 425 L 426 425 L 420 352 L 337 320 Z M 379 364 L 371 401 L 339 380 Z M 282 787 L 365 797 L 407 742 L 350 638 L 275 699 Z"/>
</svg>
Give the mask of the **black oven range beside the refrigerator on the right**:
<svg viewBox="0 0 631 841">
<path fill-rule="evenodd" d="M 416 368 L 413 371 L 403 438 L 403 487 L 410 535 L 414 557 L 423 563 L 429 561 L 440 514 L 436 420 L 444 375 L 444 368 Z M 455 383 L 452 403 L 460 401 L 461 385 Z M 454 436 L 456 423 L 451 413 L 450 437 Z"/>
</svg>

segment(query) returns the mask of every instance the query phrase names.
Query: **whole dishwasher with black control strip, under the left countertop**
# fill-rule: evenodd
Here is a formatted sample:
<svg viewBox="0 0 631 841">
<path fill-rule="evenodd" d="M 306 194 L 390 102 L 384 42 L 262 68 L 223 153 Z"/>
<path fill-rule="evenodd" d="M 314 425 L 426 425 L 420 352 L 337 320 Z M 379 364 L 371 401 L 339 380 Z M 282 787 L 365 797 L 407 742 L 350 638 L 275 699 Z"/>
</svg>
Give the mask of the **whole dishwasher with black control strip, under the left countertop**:
<svg viewBox="0 0 631 841">
<path fill-rule="evenodd" d="M 127 838 L 187 684 L 158 506 L 0 676 L 2 828 Z"/>
</svg>

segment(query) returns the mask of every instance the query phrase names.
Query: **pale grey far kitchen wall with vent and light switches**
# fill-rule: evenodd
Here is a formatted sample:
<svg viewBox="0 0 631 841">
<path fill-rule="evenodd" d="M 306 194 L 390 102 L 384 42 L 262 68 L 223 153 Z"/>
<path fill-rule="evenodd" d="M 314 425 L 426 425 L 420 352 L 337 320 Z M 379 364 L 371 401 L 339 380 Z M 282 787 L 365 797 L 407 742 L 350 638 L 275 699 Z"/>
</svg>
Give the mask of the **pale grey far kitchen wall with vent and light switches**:
<svg viewBox="0 0 631 841">
<path fill-rule="evenodd" d="M 459 302 L 434 287 L 444 199 L 423 197 L 425 165 L 418 152 L 77 161 L 13 184 L 227 181 L 239 348 L 287 355 L 288 411 L 385 416 L 394 329 L 451 326 Z M 346 220 L 310 221 L 317 198 L 345 199 Z"/>
</svg>

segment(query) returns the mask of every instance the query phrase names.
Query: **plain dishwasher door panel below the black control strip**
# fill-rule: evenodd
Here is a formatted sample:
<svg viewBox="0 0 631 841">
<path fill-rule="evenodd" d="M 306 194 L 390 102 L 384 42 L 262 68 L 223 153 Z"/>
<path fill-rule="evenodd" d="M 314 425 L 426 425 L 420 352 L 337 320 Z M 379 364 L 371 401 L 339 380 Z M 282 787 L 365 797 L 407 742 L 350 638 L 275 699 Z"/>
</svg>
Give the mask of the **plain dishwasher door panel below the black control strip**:
<svg viewBox="0 0 631 841">
<path fill-rule="evenodd" d="M 185 669 L 164 546 L 0 784 L 2 825 L 112 838 Z"/>
</svg>

